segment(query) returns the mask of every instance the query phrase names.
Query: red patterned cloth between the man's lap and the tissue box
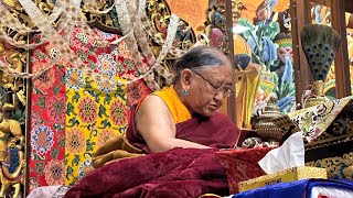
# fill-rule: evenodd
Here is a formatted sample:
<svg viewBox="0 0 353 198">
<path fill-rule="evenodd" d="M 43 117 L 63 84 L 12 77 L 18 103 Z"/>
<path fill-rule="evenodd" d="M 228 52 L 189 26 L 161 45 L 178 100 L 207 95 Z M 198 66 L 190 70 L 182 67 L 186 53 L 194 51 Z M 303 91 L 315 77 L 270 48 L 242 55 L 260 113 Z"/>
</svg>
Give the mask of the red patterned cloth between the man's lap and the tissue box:
<svg viewBox="0 0 353 198">
<path fill-rule="evenodd" d="M 239 193 L 239 182 L 265 175 L 258 162 L 265 157 L 270 147 L 236 148 L 216 152 L 226 170 L 231 194 Z"/>
</svg>

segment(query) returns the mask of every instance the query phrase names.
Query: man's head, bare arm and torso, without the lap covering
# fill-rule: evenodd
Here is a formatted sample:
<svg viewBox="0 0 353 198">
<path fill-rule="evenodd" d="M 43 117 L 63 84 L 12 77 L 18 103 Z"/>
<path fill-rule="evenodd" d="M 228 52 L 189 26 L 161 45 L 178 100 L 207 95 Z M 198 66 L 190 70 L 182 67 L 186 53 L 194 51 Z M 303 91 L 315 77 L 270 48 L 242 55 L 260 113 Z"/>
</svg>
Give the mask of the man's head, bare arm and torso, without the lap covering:
<svg viewBox="0 0 353 198">
<path fill-rule="evenodd" d="M 217 112 L 234 91 L 232 69 L 216 48 L 191 50 L 174 66 L 174 84 L 140 102 L 127 131 L 128 141 L 146 153 L 173 147 L 233 147 L 238 129 Z"/>
</svg>

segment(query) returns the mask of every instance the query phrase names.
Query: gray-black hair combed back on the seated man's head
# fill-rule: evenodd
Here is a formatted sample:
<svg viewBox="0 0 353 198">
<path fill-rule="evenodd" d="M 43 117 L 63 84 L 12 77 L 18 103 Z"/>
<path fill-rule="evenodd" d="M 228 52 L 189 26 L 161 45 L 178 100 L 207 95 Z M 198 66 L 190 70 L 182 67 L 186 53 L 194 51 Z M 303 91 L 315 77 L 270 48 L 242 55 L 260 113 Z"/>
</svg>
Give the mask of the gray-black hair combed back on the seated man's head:
<svg viewBox="0 0 353 198">
<path fill-rule="evenodd" d="M 180 80 L 181 72 L 185 68 L 202 72 L 224 65 L 232 66 L 229 59 L 222 51 L 207 45 L 196 46 L 180 57 L 174 64 L 173 70 L 175 72 L 175 77 L 173 85 Z"/>
</svg>

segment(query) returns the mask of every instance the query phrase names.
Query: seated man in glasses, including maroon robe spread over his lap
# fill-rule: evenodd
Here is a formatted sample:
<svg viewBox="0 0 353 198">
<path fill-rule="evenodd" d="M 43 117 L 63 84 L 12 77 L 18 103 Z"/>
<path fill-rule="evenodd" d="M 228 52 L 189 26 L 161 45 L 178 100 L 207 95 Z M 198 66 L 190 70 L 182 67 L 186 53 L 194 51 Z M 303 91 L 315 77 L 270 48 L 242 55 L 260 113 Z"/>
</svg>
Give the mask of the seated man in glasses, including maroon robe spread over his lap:
<svg viewBox="0 0 353 198">
<path fill-rule="evenodd" d="M 188 52 L 175 64 L 174 84 L 147 96 L 131 113 L 129 143 L 122 147 L 132 144 L 146 155 L 103 165 L 77 182 L 65 198 L 229 195 L 215 151 L 233 147 L 238 139 L 236 124 L 217 112 L 233 91 L 232 69 L 216 48 L 197 46 Z M 261 175 L 257 160 L 263 156 L 264 152 L 234 157 L 242 163 L 238 178 Z"/>
</svg>

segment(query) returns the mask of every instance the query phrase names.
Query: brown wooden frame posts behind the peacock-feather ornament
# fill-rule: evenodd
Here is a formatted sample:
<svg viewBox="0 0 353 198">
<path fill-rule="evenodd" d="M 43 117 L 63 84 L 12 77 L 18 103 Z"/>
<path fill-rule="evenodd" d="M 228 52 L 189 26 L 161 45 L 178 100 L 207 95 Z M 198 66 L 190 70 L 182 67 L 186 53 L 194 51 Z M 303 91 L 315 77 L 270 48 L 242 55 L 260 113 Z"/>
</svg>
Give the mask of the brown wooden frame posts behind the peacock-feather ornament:
<svg viewBox="0 0 353 198">
<path fill-rule="evenodd" d="M 296 99 L 300 102 L 302 91 L 309 85 L 312 85 L 312 75 L 308 67 L 307 58 L 300 44 L 300 30 L 311 23 L 311 8 L 310 3 L 315 2 L 331 8 L 332 12 L 332 28 L 341 35 L 341 47 L 334 59 L 335 67 L 335 90 L 336 98 L 343 98 L 350 96 L 351 80 L 350 80 L 350 64 L 347 51 L 342 47 L 347 45 L 346 41 L 346 28 L 344 11 L 353 12 L 353 3 L 349 0 L 290 0 L 290 14 L 292 18 L 292 41 L 293 41 L 293 68 L 295 68 L 295 81 L 296 81 Z M 339 3 L 340 2 L 340 3 Z"/>
</svg>

